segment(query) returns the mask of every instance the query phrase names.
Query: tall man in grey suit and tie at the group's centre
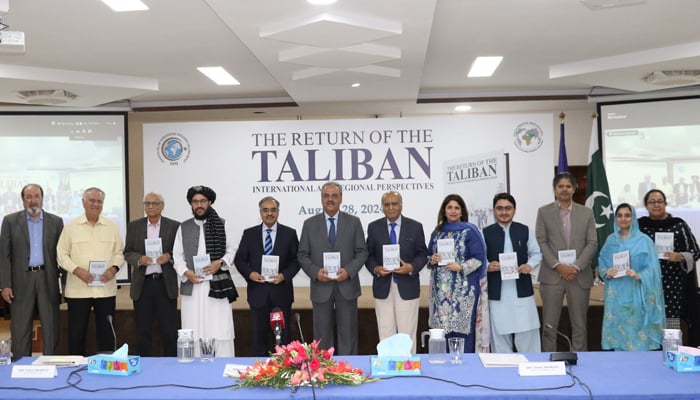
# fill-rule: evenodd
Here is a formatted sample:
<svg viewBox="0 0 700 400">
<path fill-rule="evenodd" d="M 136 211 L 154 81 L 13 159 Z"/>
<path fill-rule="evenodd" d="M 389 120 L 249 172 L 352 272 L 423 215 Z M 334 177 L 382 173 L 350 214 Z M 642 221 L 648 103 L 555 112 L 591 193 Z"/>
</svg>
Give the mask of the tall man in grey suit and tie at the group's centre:
<svg viewBox="0 0 700 400">
<path fill-rule="evenodd" d="M 357 354 L 357 274 L 367 259 L 360 219 L 340 211 L 343 191 L 336 182 L 321 188 L 323 212 L 304 221 L 297 258 L 311 279 L 314 339 L 333 346 L 333 316 L 337 323 L 338 354 Z M 338 254 L 339 253 L 339 254 Z M 338 261 L 332 261 L 337 260 Z"/>
</svg>

